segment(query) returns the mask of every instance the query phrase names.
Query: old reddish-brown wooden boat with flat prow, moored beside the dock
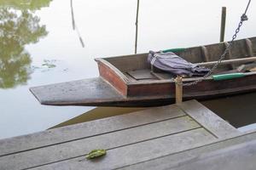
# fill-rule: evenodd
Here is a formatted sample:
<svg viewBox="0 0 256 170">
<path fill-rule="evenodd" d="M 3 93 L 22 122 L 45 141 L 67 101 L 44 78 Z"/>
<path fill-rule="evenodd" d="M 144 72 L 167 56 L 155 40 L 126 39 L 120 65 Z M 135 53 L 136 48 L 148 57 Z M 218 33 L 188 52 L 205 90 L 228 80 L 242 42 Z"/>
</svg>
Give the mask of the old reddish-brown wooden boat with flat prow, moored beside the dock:
<svg viewBox="0 0 256 170">
<path fill-rule="evenodd" d="M 178 56 L 192 63 L 211 68 L 227 42 L 195 48 L 176 50 Z M 241 64 L 256 61 L 256 37 L 237 40 L 225 60 L 214 74 L 234 72 Z M 152 106 L 172 104 L 175 98 L 175 82 L 165 71 L 154 68 L 147 61 L 148 54 L 134 54 L 96 59 L 100 77 L 74 82 L 62 82 L 31 88 L 32 94 L 43 105 L 103 105 L 103 106 Z M 241 73 L 242 77 L 212 77 L 194 86 L 183 87 L 183 99 L 211 99 L 230 94 L 256 90 L 256 72 Z M 183 78 L 183 83 L 201 77 Z"/>
</svg>

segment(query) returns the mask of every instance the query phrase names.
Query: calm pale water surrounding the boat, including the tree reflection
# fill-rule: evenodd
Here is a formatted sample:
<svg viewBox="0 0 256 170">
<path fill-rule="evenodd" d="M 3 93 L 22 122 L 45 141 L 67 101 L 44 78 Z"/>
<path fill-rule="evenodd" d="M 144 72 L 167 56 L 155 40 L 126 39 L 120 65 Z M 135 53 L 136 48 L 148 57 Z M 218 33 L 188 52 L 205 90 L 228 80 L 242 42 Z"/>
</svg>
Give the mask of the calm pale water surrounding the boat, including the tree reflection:
<svg viewBox="0 0 256 170">
<path fill-rule="evenodd" d="M 228 40 L 246 3 L 141 1 L 138 52 L 218 42 L 222 6 L 227 7 Z M 73 0 L 72 17 L 69 0 L 0 0 L 0 139 L 41 131 L 90 111 L 39 105 L 28 89 L 96 77 L 94 58 L 132 54 L 136 5 L 136 0 Z M 252 3 L 238 38 L 255 36 L 255 9 Z"/>
</svg>

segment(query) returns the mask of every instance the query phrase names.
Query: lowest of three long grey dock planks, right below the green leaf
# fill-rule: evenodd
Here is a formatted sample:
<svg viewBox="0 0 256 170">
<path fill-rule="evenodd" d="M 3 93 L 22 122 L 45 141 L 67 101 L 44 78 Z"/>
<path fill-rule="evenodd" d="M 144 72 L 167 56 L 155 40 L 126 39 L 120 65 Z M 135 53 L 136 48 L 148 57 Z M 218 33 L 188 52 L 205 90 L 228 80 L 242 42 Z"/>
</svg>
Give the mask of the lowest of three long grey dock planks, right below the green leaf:
<svg viewBox="0 0 256 170">
<path fill-rule="evenodd" d="M 115 169 L 148 159 L 166 156 L 171 153 L 188 150 L 215 140 L 211 133 L 198 128 L 177 133 L 159 139 L 108 150 L 107 156 L 98 161 L 87 161 L 84 156 L 38 167 L 38 169 Z M 37 169 L 37 168 L 35 168 Z"/>
</svg>

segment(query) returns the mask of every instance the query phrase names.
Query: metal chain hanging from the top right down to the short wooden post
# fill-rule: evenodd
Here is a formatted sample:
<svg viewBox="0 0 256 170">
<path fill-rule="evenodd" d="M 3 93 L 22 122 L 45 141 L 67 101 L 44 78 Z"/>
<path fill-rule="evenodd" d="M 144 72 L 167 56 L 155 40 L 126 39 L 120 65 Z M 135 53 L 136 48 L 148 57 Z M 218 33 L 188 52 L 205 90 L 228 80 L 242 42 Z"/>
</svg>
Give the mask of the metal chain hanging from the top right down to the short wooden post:
<svg viewBox="0 0 256 170">
<path fill-rule="evenodd" d="M 238 26 L 237 26 L 237 28 L 236 28 L 236 32 L 235 32 L 235 34 L 233 35 L 232 40 L 228 43 L 228 46 L 227 46 L 227 48 L 224 50 L 224 53 L 223 53 L 222 55 L 220 55 L 220 57 L 219 57 L 219 59 L 218 59 L 218 62 L 217 62 L 215 65 L 212 66 L 211 71 L 207 72 L 207 74 L 206 74 L 204 77 L 202 77 L 202 78 L 200 78 L 200 79 L 198 79 L 198 80 L 195 80 L 194 82 L 181 83 L 183 86 L 192 86 L 192 85 L 197 84 L 198 82 L 202 82 L 202 81 L 205 80 L 207 77 L 209 77 L 209 76 L 212 74 L 213 71 L 216 70 L 216 68 L 218 67 L 218 65 L 221 63 L 221 61 L 225 58 L 226 54 L 229 52 L 229 50 L 230 50 L 230 48 L 231 48 L 231 46 L 232 46 L 234 40 L 235 40 L 236 37 L 237 37 L 238 32 L 240 31 L 240 27 L 242 26 L 242 23 L 243 23 L 245 20 L 248 20 L 248 18 L 247 18 L 247 9 L 248 9 L 250 3 L 251 3 L 251 0 L 249 0 L 249 2 L 247 3 L 247 8 L 246 8 L 244 14 L 241 15 L 241 20 L 240 20 L 240 22 L 239 22 L 239 24 L 238 24 Z"/>
</svg>

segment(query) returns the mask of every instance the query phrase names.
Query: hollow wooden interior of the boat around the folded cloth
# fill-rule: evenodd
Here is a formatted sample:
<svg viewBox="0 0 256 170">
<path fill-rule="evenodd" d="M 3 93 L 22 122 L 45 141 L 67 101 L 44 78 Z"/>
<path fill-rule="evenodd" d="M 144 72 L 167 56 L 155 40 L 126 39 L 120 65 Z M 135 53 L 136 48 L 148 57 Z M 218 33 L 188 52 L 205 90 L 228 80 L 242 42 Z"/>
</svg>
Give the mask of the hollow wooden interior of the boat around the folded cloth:
<svg viewBox="0 0 256 170">
<path fill-rule="evenodd" d="M 175 54 L 188 60 L 191 63 L 207 63 L 217 61 L 227 48 L 228 42 L 221 42 L 195 48 L 185 48 Z M 225 59 L 241 59 L 253 57 L 256 54 L 256 37 L 241 39 L 233 42 Z M 117 70 L 121 72 L 128 82 L 145 82 L 171 80 L 173 75 L 166 71 L 161 71 L 155 67 L 151 68 L 148 63 L 148 54 L 125 55 L 122 57 L 104 58 Z M 206 67 L 212 68 L 212 65 Z M 247 63 L 231 63 L 226 65 L 218 65 L 213 74 L 226 74 L 234 72 L 245 72 L 256 68 L 256 62 Z M 253 71 L 253 70 L 252 70 Z M 185 77 L 186 78 L 186 77 Z M 187 77 L 187 80 L 197 79 L 199 77 Z"/>
</svg>

